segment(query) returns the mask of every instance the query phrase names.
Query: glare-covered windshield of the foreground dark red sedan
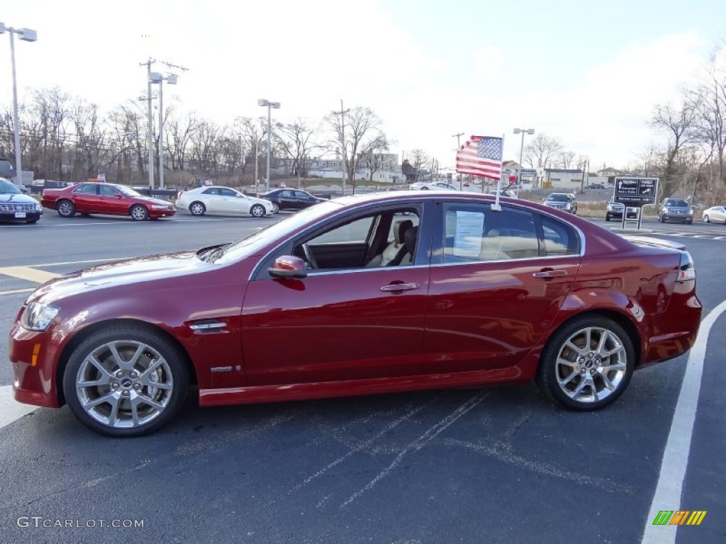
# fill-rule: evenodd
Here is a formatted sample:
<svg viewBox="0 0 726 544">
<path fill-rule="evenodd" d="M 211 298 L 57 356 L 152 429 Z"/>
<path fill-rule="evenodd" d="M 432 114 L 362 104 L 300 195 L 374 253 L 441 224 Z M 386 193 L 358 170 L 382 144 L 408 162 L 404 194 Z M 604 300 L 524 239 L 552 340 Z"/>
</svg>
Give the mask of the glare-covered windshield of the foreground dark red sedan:
<svg viewBox="0 0 726 544">
<path fill-rule="evenodd" d="M 225 247 L 224 250 L 219 252 L 219 257 L 215 259 L 215 262 L 222 264 L 232 263 L 244 257 L 255 255 L 256 252 L 260 251 L 274 239 L 285 239 L 290 233 L 306 223 L 313 223 L 333 210 L 337 210 L 339 207 L 340 204 L 338 202 L 328 200 L 327 202 L 305 208 L 295 213 L 295 215 L 290 215 L 287 219 L 272 223 L 272 225 L 261 228 L 259 231 Z"/>
</svg>

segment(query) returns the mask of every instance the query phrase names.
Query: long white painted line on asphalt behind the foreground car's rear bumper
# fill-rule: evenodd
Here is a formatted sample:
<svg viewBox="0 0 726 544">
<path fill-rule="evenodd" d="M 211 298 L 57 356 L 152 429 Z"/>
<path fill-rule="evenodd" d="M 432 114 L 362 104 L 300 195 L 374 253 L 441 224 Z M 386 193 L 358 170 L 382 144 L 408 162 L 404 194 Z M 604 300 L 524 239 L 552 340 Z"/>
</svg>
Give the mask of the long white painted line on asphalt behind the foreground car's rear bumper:
<svg viewBox="0 0 726 544">
<path fill-rule="evenodd" d="M 701 393 L 701 376 L 703 376 L 706 346 L 709 343 L 711 326 L 725 311 L 726 300 L 711 310 L 711 313 L 701 321 L 698 338 L 688 355 L 683 384 L 663 453 L 656 494 L 653 495 L 648 519 L 645 520 L 642 544 L 672 544 L 676 541 L 677 525 L 653 525 L 653 521 L 661 510 L 677 511 L 681 509 L 683 479 L 685 479 L 685 471 L 688 469 L 688 454 L 693 437 L 693 422 L 696 420 L 696 410 L 698 409 L 698 395 Z M 685 507 L 698 508 L 698 505 L 687 504 Z"/>
</svg>

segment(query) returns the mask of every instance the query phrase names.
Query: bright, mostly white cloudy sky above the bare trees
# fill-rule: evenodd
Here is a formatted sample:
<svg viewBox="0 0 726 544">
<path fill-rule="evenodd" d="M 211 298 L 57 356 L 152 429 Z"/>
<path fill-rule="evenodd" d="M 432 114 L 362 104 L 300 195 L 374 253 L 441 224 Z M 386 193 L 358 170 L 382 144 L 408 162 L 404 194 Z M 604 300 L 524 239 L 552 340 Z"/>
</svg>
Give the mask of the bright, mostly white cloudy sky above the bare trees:
<svg viewBox="0 0 726 544">
<path fill-rule="evenodd" d="M 152 57 L 188 67 L 166 98 L 219 123 L 266 113 L 317 123 L 340 107 L 374 110 L 394 152 L 421 148 L 452 166 L 452 134 L 512 128 L 624 167 L 662 138 L 653 106 L 677 100 L 726 37 L 725 0 L 6 1 L 18 91 L 60 86 L 113 107 L 146 92 Z M 12 104 L 0 37 L 0 104 Z M 163 68 L 163 65 L 157 65 Z M 530 136 L 528 136 L 530 138 Z M 525 144 L 526 144 L 525 140 Z"/>
</svg>

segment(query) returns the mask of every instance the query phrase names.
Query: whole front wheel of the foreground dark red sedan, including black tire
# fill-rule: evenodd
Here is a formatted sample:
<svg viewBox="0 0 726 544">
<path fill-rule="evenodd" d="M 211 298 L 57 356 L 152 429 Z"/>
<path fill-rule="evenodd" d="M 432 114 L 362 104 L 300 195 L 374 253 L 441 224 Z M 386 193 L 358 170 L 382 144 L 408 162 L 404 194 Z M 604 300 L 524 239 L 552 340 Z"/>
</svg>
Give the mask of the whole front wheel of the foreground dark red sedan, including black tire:
<svg viewBox="0 0 726 544">
<path fill-rule="evenodd" d="M 112 343 L 115 344 L 122 360 L 127 363 L 131 361 L 137 350 L 144 351 L 136 363 L 124 371 L 115 365 L 113 354 L 108 347 Z M 84 364 L 91 354 L 94 354 L 94 358 L 106 368 L 109 383 L 78 388 L 76 386 L 81 378 L 88 382 L 103 376 L 97 366 Z M 158 366 L 152 368 L 152 365 L 157 363 Z M 134 369 L 136 369 L 135 377 Z M 150 383 L 165 383 L 171 387 L 169 389 L 153 387 Z M 173 342 L 152 329 L 134 325 L 109 326 L 91 334 L 73 350 L 62 376 L 62 384 L 70 411 L 83 425 L 110 437 L 137 437 L 159 429 L 174 418 L 181 409 L 189 389 L 187 358 Z M 137 385 L 138 390 L 136 390 Z M 134 411 L 131 409 L 131 395 L 134 395 L 137 406 L 136 424 L 133 419 Z M 89 411 L 83 408 L 83 403 L 97 401 L 102 397 L 109 398 L 109 402 L 97 403 L 91 406 Z M 159 406 L 163 405 L 163 408 L 158 410 L 153 405 L 145 404 L 144 399 Z M 117 407 L 115 411 L 113 402 Z M 89 413 L 91 411 L 93 414 Z M 116 412 L 116 417 L 113 419 L 116 421 L 115 424 L 112 423 L 114 412 Z M 147 421 L 139 421 L 139 418 Z M 103 421 L 104 419 L 107 421 Z"/>
</svg>

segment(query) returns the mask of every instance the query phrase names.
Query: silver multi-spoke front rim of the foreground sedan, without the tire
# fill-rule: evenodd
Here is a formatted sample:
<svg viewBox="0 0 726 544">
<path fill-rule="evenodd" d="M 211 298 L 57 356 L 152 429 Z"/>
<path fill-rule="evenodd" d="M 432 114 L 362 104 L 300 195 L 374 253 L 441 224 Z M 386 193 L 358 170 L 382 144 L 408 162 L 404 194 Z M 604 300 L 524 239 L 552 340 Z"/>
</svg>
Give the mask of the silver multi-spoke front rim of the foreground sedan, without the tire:
<svg viewBox="0 0 726 544">
<path fill-rule="evenodd" d="M 166 410 L 174 392 L 168 362 L 136 340 L 100 345 L 81 362 L 76 395 L 95 421 L 115 429 L 149 424 Z"/>
</svg>

